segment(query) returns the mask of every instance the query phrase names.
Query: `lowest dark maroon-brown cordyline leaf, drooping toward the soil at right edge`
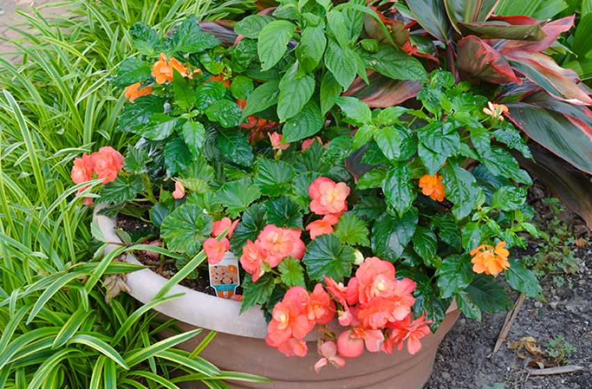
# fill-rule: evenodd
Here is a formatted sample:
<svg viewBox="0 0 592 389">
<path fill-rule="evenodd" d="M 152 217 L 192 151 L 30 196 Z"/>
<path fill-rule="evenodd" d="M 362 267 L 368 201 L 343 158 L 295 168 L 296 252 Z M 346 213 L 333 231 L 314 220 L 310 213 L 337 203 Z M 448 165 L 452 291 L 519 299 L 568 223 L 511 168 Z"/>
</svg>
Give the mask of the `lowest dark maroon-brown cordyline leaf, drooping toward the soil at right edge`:
<svg viewBox="0 0 592 389">
<path fill-rule="evenodd" d="M 544 147 L 531 143 L 529 149 L 536 162 L 515 150 L 511 150 L 511 154 L 522 167 L 541 179 L 567 208 L 581 216 L 592 228 L 592 181 L 579 169 Z"/>
</svg>

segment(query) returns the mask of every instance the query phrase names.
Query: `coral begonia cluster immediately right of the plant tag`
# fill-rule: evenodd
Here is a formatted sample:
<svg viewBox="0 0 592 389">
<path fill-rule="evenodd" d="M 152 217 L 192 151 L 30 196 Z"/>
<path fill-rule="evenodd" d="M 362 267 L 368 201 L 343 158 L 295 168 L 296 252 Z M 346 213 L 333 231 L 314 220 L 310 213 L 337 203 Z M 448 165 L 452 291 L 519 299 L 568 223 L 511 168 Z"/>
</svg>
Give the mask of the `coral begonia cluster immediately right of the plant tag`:
<svg viewBox="0 0 592 389">
<path fill-rule="evenodd" d="M 268 224 L 255 242 L 247 241 L 243 247 L 241 265 L 253 275 L 253 282 L 257 282 L 260 276 L 271 270 L 271 267 L 278 266 L 288 256 L 302 259 L 306 247 L 300 238 L 301 233 L 299 229 L 283 229 Z"/>
</svg>

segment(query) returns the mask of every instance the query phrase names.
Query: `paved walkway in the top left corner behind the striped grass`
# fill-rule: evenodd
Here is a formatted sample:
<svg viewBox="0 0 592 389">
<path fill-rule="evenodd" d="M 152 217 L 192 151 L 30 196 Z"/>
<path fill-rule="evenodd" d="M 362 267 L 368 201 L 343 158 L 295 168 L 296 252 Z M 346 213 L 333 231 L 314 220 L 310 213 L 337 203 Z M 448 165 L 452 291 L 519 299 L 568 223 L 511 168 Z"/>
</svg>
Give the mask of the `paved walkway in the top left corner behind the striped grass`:
<svg viewBox="0 0 592 389">
<path fill-rule="evenodd" d="M 22 35 L 10 29 L 10 26 L 18 26 L 22 22 L 22 16 L 15 13 L 17 8 L 21 10 L 28 10 L 32 7 L 40 7 L 49 3 L 49 0 L 0 0 L 0 8 L 3 13 L 0 15 L 0 38 L 6 38 L 8 40 L 15 40 L 21 38 Z M 55 14 L 63 14 L 65 10 L 63 8 L 48 8 L 46 12 Z M 10 42 L 0 40 L 0 56 L 8 53 L 14 53 L 15 47 Z M 15 56 L 9 56 L 11 60 L 15 59 Z"/>
</svg>

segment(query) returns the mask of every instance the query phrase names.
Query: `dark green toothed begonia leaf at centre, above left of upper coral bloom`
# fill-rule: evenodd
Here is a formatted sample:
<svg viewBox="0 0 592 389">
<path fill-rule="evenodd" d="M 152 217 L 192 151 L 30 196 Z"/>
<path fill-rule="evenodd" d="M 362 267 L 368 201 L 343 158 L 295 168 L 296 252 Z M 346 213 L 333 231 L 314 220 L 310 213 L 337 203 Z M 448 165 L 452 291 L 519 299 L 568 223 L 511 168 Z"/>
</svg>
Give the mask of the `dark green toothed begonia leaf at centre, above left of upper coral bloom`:
<svg viewBox="0 0 592 389">
<path fill-rule="evenodd" d="M 285 195 L 290 190 L 290 183 L 295 177 L 294 168 L 287 163 L 260 158 L 254 182 L 265 195 L 277 197 Z"/>
</svg>

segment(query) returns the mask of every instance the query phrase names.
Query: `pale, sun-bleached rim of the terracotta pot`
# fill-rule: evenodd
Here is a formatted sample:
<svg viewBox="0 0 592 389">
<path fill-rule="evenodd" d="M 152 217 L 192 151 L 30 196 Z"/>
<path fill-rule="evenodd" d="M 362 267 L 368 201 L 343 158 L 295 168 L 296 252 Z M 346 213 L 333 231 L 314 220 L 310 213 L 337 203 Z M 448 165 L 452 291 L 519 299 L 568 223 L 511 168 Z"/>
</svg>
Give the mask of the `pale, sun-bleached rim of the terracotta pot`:
<svg viewBox="0 0 592 389">
<path fill-rule="evenodd" d="M 117 233 L 115 233 L 117 218 L 97 215 L 99 210 L 106 208 L 108 205 L 106 203 L 97 204 L 93 212 L 93 220 L 97 220 L 99 229 L 107 241 L 122 243 Z M 117 247 L 116 245 L 107 245 L 105 254 Z M 125 254 L 124 259 L 127 263 L 143 265 L 131 253 Z M 157 295 L 157 292 L 161 290 L 167 281 L 163 276 L 146 268 L 127 273 L 126 283 L 131 289 L 129 295 L 142 304 L 147 304 L 152 301 L 152 298 Z M 239 301 L 207 295 L 206 293 L 198 292 L 182 285 L 175 285 L 167 293 L 167 296 L 177 295 L 179 293 L 184 295 L 170 301 L 165 301 L 152 309 L 181 322 L 193 324 L 194 326 L 211 331 L 246 338 L 264 339 L 267 336 L 267 323 L 259 305 L 248 308 L 248 310 L 239 316 L 241 311 L 241 303 Z M 448 314 L 457 309 L 456 300 L 453 300 L 446 313 Z M 207 313 L 207 315 L 204 313 Z M 335 326 L 336 329 L 338 327 L 343 329 L 342 326 L 339 326 L 337 320 L 333 320 L 333 322 L 337 324 Z M 316 340 L 315 331 L 311 331 L 309 336 L 305 340 Z"/>
</svg>

